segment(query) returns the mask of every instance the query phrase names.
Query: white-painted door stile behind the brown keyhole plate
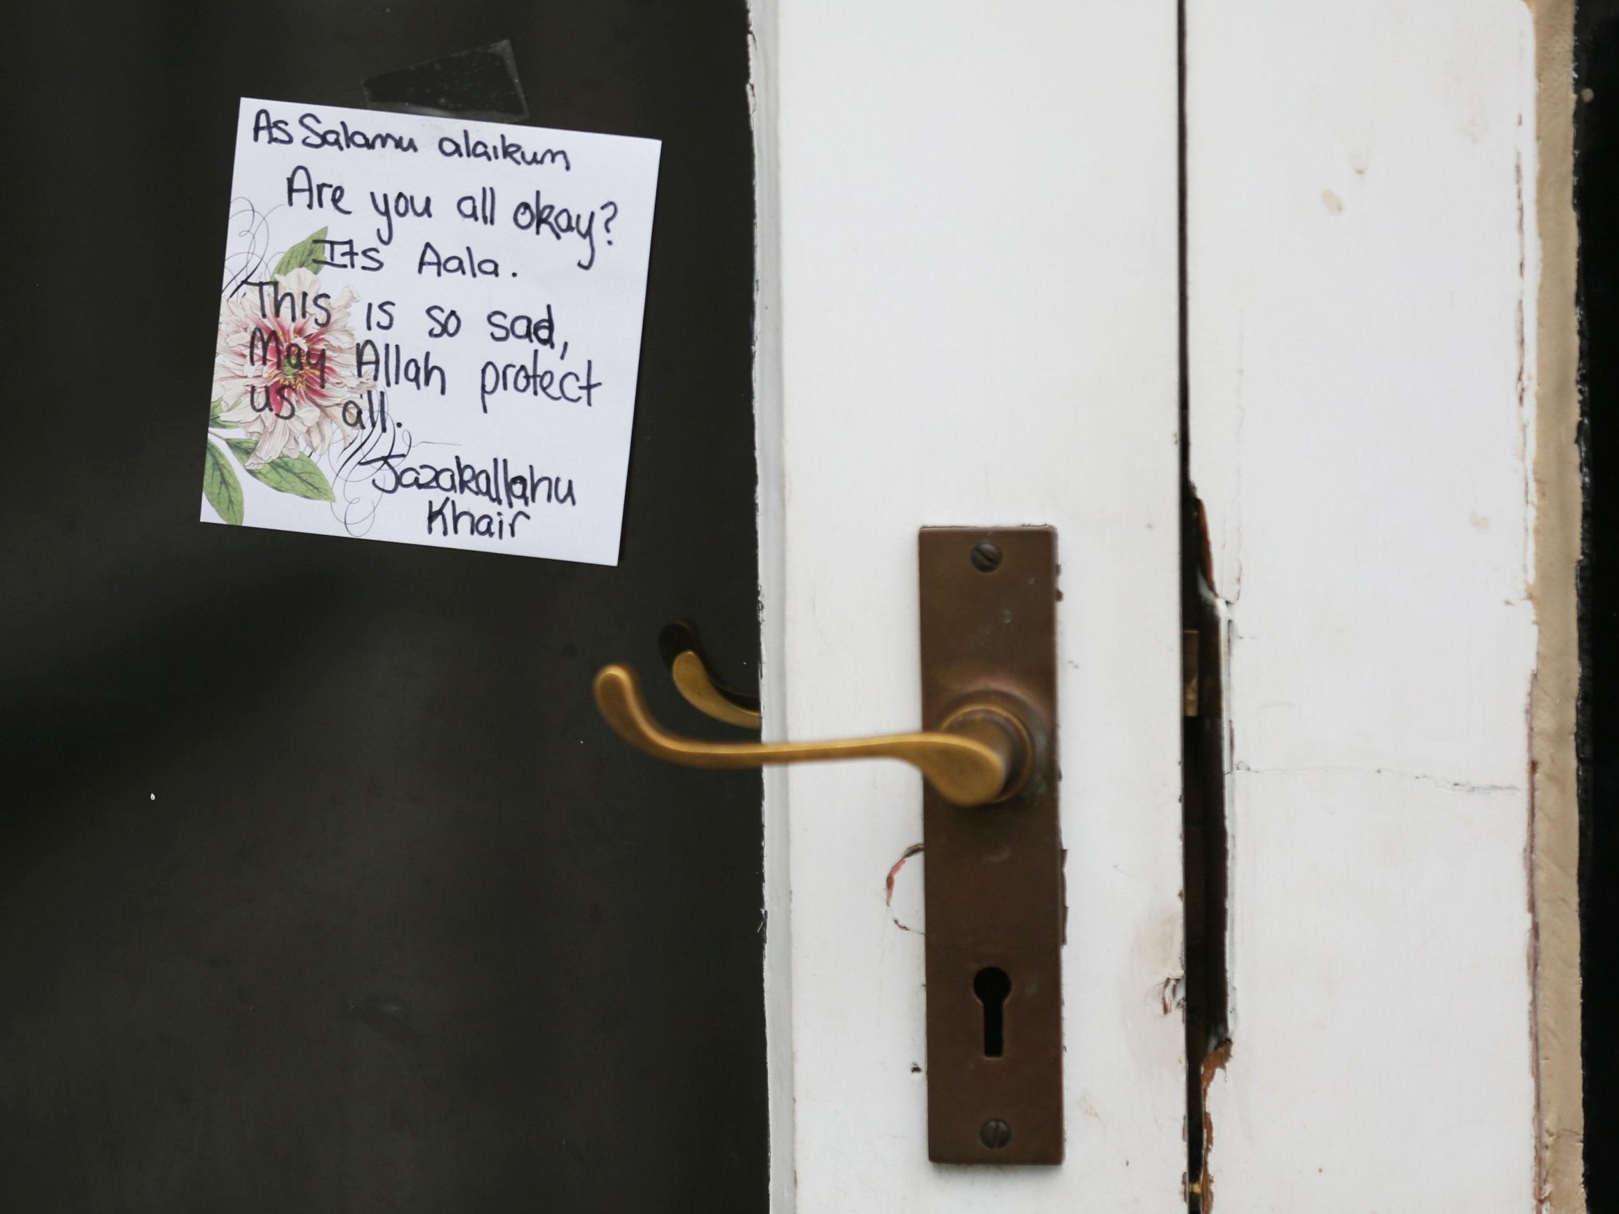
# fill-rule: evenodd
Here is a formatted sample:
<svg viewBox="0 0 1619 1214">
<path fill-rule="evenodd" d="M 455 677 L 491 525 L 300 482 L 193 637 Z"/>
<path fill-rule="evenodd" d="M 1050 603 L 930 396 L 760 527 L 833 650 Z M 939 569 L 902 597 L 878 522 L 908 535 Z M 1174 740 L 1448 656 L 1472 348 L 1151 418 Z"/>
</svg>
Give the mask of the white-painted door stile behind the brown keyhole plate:
<svg viewBox="0 0 1619 1214">
<path fill-rule="evenodd" d="M 921 838 L 920 780 L 772 777 L 776 1209 L 1174 1209 L 1175 6 L 763 0 L 754 18 L 767 732 L 913 727 L 916 529 L 1054 524 L 1070 906 L 1069 1162 L 936 1167 L 926 856 L 886 897 Z"/>
</svg>

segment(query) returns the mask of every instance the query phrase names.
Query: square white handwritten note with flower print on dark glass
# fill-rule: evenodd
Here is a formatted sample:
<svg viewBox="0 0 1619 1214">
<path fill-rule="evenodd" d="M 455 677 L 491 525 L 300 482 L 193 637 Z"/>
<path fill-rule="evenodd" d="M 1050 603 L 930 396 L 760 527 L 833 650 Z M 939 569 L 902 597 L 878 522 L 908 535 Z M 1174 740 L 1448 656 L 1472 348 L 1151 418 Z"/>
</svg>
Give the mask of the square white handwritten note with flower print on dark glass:
<svg viewBox="0 0 1619 1214">
<path fill-rule="evenodd" d="M 243 100 L 202 518 L 615 565 L 657 157 Z"/>
</svg>

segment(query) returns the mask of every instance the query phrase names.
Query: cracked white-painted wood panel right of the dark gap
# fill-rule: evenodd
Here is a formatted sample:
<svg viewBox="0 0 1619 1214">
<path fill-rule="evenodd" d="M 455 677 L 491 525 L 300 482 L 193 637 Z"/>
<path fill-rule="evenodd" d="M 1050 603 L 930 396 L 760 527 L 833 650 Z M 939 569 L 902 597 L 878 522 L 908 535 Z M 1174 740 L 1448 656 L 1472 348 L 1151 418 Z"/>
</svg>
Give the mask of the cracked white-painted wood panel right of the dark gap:
<svg viewBox="0 0 1619 1214">
<path fill-rule="evenodd" d="M 1532 10 L 1187 21 L 1188 429 L 1230 631 L 1214 1209 L 1527 1212 Z"/>
</svg>

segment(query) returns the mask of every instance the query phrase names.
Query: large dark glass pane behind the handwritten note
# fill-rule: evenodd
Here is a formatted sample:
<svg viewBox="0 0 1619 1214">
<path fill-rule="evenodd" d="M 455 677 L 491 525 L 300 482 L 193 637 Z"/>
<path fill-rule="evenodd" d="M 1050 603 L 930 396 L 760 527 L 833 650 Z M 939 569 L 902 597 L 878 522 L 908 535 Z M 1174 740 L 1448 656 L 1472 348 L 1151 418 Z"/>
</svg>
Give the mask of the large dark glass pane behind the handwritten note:
<svg viewBox="0 0 1619 1214">
<path fill-rule="evenodd" d="M 589 699 L 754 678 L 743 2 L 5 28 L 0 1208 L 764 1209 L 758 775 Z M 664 141 L 620 567 L 199 523 L 236 100 L 504 37 Z"/>
</svg>

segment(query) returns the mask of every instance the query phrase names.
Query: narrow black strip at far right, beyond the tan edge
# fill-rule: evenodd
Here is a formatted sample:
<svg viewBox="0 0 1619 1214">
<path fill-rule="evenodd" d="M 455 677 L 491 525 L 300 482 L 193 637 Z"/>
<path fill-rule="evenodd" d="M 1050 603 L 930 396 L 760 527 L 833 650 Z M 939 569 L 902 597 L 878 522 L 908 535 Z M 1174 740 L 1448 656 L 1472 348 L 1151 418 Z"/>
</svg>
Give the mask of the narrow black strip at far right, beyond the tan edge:
<svg viewBox="0 0 1619 1214">
<path fill-rule="evenodd" d="M 1575 206 L 1585 393 L 1580 968 L 1585 1175 L 1596 1214 L 1619 1209 L 1619 0 L 1577 10 Z"/>
</svg>

